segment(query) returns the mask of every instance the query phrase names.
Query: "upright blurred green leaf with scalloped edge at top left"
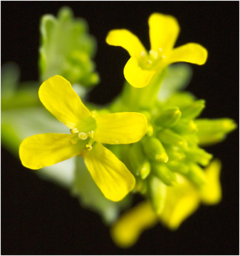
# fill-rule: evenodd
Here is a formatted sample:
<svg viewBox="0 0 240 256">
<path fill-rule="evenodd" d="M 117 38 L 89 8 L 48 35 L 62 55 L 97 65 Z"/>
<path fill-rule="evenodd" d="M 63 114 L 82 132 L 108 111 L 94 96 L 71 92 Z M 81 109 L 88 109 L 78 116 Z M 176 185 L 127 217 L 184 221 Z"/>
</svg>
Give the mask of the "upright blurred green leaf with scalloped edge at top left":
<svg viewBox="0 0 240 256">
<path fill-rule="evenodd" d="M 57 18 L 44 15 L 41 18 L 41 46 L 39 69 L 41 81 L 54 75 L 64 76 L 71 84 L 86 87 L 97 84 L 98 74 L 91 58 L 97 44 L 89 35 L 87 22 L 73 19 L 73 12 L 63 7 Z"/>
</svg>

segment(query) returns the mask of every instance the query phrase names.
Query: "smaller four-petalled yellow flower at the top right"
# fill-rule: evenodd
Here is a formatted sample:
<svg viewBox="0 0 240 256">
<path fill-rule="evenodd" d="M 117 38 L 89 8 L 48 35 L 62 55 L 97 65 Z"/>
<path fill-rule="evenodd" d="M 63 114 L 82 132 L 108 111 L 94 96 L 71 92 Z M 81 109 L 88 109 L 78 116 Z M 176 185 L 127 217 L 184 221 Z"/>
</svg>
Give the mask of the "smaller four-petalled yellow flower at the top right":
<svg viewBox="0 0 240 256">
<path fill-rule="evenodd" d="M 155 73 L 160 73 L 171 63 L 186 62 L 203 65 L 207 60 L 207 49 L 200 44 L 188 43 L 173 49 L 180 27 L 175 17 L 153 13 L 148 19 L 151 50 L 147 52 L 133 33 L 126 29 L 110 31 L 106 42 L 123 47 L 130 59 L 124 67 L 125 79 L 133 87 L 149 84 Z"/>
</svg>

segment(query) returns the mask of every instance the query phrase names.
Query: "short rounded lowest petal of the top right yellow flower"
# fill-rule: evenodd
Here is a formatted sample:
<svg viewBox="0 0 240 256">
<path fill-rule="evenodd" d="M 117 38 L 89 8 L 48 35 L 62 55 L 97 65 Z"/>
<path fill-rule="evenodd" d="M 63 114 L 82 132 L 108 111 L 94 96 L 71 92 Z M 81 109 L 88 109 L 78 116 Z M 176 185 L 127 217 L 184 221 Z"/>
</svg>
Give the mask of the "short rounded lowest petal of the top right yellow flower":
<svg viewBox="0 0 240 256">
<path fill-rule="evenodd" d="M 124 67 L 125 79 L 133 87 L 143 88 L 149 84 L 155 71 L 147 71 L 140 67 L 135 57 L 130 57 Z"/>
</svg>

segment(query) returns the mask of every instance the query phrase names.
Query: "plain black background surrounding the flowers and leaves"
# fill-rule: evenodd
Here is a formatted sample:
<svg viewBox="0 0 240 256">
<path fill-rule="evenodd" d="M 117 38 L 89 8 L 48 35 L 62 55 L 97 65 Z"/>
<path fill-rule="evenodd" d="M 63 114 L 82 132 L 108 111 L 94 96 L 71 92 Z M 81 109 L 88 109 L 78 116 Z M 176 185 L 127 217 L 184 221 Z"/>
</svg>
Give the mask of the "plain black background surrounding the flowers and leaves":
<svg viewBox="0 0 240 256">
<path fill-rule="evenodd" d="M 68 5 L 84 17 L 97 39 L 95 61 L 101 83 L 90 95 L 108 103 L 121 90 L 124 49 L 105 44 L 113 28 L 128 28 L 146 47 L 148 17 L 163 12 L 177 17 L 177 46 L 190 41 L 209 51 L 207 64 L 193 66 L 188 90 L 207 100 L 202 116 L 230 117 L 239 124 L 238 1 L 1 1 L 1 63 L 20 65 L 21 80 L 37 80 L 39 19 Z M 178 231 L 161 225 L 145 231 L 134 247 L 117 248 L 95 213 L 81 209 L 68 191 L 40 180 L 1 148 L 2 255 L 239 255 L 239 135 L 236 130 L 208 148 L 223 161 L 223 201 L 201 207 Z"/>
</svg>

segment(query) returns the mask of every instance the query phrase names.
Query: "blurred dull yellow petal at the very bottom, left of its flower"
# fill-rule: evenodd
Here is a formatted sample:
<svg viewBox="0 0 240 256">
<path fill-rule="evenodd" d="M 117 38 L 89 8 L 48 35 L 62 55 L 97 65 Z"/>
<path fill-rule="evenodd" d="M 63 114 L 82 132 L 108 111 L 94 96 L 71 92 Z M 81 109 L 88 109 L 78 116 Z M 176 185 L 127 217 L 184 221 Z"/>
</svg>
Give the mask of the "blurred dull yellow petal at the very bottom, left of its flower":
<svg viewBox="0 0 240 256">
<path fill-rule="evenodd" d="M 158 222 L 148 201 L 140 202 L 125 212 L 111 228 L 113 241 L 122 248 L 131 247 L 145 229 L 152 228 Z"/>
</svg>

